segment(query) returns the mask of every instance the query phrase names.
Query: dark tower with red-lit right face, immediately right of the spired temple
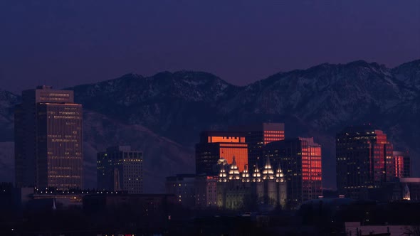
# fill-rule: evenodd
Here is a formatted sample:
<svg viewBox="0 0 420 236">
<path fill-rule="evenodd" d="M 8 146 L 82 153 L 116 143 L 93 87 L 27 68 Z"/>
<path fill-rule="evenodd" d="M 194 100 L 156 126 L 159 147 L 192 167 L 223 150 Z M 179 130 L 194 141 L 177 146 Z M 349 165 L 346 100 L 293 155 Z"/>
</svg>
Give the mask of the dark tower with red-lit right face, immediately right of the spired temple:
<svg viewBox="0 0 420 236">
<path fill-rule="evenodd" d="M 313 138 L 274 141 L 264 149 L 271 165 L 283 169 L 290 208 L 322 195 L 321 146 Z"/>
</svg>

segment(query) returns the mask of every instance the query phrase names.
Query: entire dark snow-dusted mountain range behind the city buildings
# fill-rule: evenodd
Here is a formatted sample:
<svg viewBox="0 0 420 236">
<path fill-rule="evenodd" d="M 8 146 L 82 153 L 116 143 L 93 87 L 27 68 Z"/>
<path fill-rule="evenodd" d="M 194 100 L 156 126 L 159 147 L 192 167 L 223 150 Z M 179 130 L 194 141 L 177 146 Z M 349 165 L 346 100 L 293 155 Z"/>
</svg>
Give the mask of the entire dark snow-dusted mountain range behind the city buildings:
<svg viewBox="0 0 420 236">
<path fill-rule="evenodd" d="M 85 186 L 95 187 L 96 152 L 117 144 L 145 155 L 145 191 L 164 191 L 164 177 L 194 173 L 199 132 L 231 124 L 284 122 L 286 138 L 314 136 L 322 145 L 324 186 L 335 187 L 335 134 L 374 124 L 394 149 L 408 150 L 420 173 L 420 60 L 387 68 L 358 60 L 322 64 L 236 86 L 210 73 L 127 74 L 68 88 L 84 109 Z M 0 181 L 13 181 L 13 106 L 0 90 Z"/>
</svg>

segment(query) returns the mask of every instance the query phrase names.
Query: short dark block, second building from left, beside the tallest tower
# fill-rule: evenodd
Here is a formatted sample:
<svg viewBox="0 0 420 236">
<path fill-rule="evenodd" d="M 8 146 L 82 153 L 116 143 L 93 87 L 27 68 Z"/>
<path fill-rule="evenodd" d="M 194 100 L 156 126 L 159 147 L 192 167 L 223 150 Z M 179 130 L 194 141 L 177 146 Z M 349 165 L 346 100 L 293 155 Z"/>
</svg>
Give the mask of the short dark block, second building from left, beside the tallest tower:
<svg viewBox="0 0 420 236">
<path fill-rule="evenodd" d="M 143 154 L 130 146 L 111 146 L 98 153 L 98 189 L 143 193 Z"/>
</svg>

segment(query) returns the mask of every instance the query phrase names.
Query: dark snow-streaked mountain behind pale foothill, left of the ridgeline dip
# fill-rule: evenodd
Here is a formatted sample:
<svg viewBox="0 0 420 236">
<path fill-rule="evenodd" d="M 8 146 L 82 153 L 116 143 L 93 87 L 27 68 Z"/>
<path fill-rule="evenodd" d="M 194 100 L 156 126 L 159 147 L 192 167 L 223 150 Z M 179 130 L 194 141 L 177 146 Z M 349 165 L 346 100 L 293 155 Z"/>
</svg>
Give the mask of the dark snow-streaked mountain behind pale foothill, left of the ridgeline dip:
<svg viewBox="0 0 420 236">
<path fill-rule="evenodd" d="M 209 73 L 189 71 L 128 74 L 70 89 L 85 109 L 125 124 L 142 124 L 182 144 L 195 140 L 197 132 L 214 122 L 219 107 L 240 90 Z"/>
</svg>

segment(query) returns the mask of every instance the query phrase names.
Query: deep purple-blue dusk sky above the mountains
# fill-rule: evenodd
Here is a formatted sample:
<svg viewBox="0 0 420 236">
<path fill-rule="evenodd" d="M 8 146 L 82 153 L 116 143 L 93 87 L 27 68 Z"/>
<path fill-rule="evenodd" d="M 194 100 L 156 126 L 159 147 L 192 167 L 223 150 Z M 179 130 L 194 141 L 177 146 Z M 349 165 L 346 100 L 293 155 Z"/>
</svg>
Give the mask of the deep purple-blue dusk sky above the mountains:
<svg viewBox="0 0 420 236">
<path fill-rule="evenodd" d="M 0 89 L 420 58 L 420 1 L 0 1 Z"/>
</svg>

